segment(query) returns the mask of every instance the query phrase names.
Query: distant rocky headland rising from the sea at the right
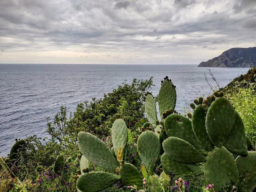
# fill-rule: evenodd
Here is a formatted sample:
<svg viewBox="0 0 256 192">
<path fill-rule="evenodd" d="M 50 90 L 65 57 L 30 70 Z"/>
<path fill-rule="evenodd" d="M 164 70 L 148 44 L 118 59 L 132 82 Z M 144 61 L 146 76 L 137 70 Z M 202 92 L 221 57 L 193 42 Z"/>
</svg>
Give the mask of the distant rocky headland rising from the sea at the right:
<svg viewBox="0 0 256 192">
<path fill-rule="evenodd" d="M 250 63 L 256 66 L 256 47 L 229 49 L 198 67 L 250 67 Z"/>
</svg>

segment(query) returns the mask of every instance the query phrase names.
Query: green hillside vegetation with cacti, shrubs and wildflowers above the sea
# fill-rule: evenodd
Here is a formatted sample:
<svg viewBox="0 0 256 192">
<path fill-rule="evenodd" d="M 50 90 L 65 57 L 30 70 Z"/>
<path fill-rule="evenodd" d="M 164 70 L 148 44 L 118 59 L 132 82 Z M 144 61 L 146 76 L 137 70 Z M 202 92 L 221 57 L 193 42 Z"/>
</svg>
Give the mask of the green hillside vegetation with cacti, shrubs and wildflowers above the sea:
<svg viewBox="0 0 256 192">
<path fill-rule="evenodd" d="M 174 110 L 176 89 L 167 76 L 157 97 L 150 93 L 152 78 L 134 79 L 69 115 L 62 106 L 47 118 L 48 139 L 16 140 L 1 158 L 0 191 L 254 192 L 255 72 L 195 99 L 193 114 Z M 207 123 L 224 116 L 218 126 Z"/>
</svg>

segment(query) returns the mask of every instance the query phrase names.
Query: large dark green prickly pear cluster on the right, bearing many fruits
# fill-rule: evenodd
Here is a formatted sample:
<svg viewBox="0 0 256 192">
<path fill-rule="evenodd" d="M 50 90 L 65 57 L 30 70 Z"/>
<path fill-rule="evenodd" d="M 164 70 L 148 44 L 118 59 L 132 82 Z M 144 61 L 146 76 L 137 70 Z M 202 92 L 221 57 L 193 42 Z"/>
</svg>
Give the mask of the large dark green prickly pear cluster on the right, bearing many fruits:
<svg viewBox="0 0 256 192">
<path fill-rule="evenodd" d="M 150 94 L 145 99 L 147 116 L 155 114 L 156 111 L 151 98 Z M 194 103 L 190 104 L 194 113 L 188 113 L 188 118 L 177 114 L 174 110 L 175 103 L 175 86 L 166 77 L 162 81 L 158 98 L 161 128 L 157 127 L 159 125 L 156 124 L 158 120 L 155 115 L 151 115 L 149 121 L 157 131 L 155 134 L 159 138 L 160 147 L 159 142 L 151 138 L 148 143 L 143 143 L 151 146 L 145 148 L 149 151 L 144 153 L 151 152 L 151 157 L 154 157 L 157 156 L 159 148 L 162 148 L 158 164 L 161 163 L 166 174 L 204 174 L 207 183 L 214 185 L 215 191 L 224 192 L 237 188 L 239 191 L 253 192 L 256 188 L 256 152 L 247 151 L 251 142 L 245 135 L 242 119 L 224 93 L 214 92 L 206 99 L 195 99 Z M 145 141 L 144 137 L 144 133 L 140 134 L 138 147 L 140 140 Z M 152 151 L 157 154 L 153 154 Z M 147 160 L 144 160 L 145 157 Z M 150 157 L 145 157 L 141 156 L 141 159 L 147 167 Z M 155 162 L 151 161 L 151 165 L 155 165 Z M 150 166 L 147 170 L 148 173 L 152 173 Z M 155 187 L 151 188 L 153 192 L 158 191 L 158 182 L 155 178 L 152 177 L 151 181 L 155 183 Z"/>
</svg>

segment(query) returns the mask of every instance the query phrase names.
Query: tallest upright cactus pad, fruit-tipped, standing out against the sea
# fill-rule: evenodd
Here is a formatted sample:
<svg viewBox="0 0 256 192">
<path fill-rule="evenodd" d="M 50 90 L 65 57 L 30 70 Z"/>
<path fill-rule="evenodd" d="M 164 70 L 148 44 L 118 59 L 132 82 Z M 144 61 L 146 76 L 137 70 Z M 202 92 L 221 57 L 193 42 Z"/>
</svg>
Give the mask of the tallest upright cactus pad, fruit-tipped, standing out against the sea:
<svg viewBox="0 0 256 192">
<path fill-rule="evenodd" d="M 175 108 L 176 90 L 174 85 L 172 84 L 172 81 L 163 81 L 163 84 L 159 90 L 158 105 L 160 114 L 162 114 L 170 108 Z"/>
</svg>

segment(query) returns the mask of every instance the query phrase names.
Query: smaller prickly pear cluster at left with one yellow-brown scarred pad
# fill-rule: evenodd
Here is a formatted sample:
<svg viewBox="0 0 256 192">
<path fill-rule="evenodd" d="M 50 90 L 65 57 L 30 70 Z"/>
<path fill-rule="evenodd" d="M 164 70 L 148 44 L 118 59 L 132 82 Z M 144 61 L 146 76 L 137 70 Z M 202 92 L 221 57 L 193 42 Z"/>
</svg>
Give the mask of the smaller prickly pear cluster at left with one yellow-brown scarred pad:
<svg viewBox="0 0 256 192">
<path fill-rule="evenodd" d="M 132 164 L 124 162 L 128 131 L 125 122 L 119 118 L 116 118 L 111 126 L 113 142 L 111 151 L 93 134 L 79 132 L 78 145 L 83 154 L 80 160 L 81 175 L 75 175 L 76 178 L 74 176 L 79 191 L 99 192 L 119 180 L 125 185 L 136 186 L 138 190 L 143 189 L 143 177 L 139 170 Z M 89 161 L 108 172 L 89 172 Z"/>
</svg>

